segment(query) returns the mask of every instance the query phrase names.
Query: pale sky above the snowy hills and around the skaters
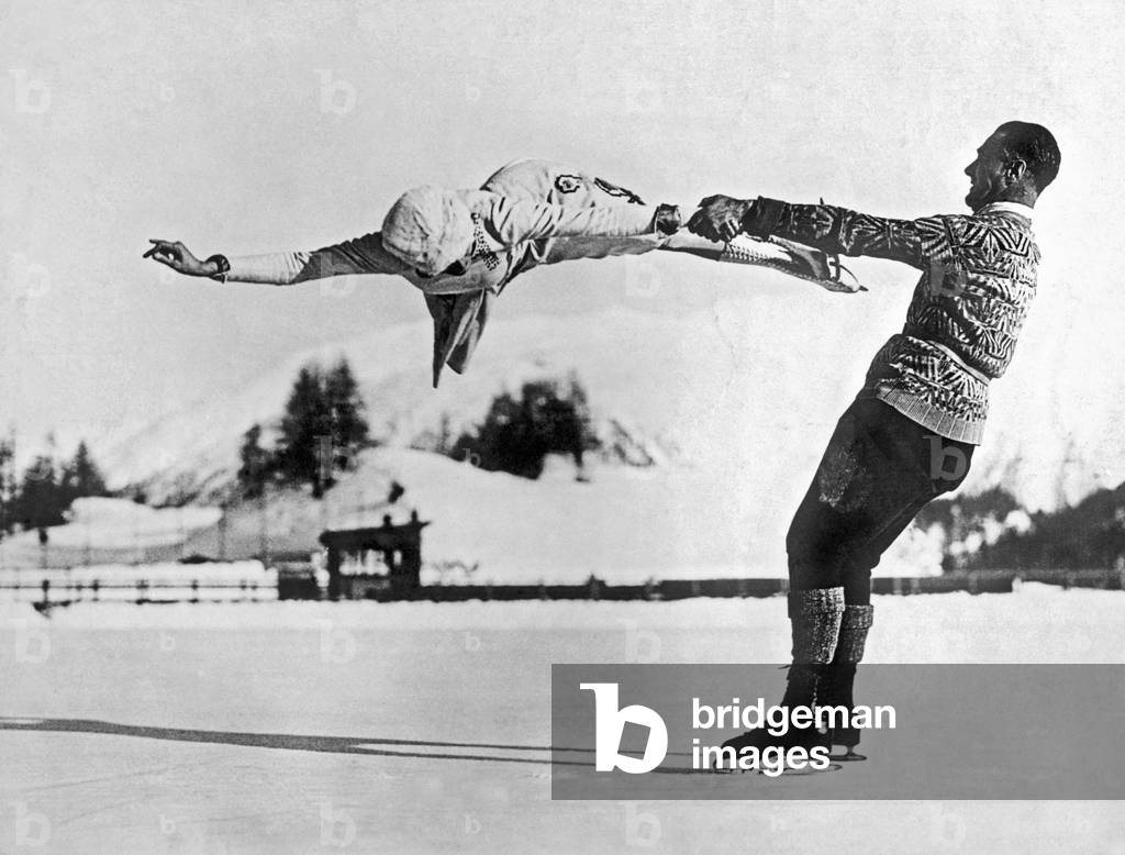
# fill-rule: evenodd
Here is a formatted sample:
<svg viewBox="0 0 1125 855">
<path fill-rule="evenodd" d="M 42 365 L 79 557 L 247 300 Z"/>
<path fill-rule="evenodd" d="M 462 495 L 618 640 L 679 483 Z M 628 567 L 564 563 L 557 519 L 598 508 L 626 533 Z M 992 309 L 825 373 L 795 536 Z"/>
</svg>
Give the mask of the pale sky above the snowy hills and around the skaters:
<svg viewBox="0 0 1125 855">
<path fill-rule="evenodd" d="M 1041 310 L 1092 335 L 1125 315 L 1114 2 L 187 6 L 0 0 L 0 417 L 21 436 L 101 435 L 426 317 L 390 278 L 177 278 L 141 259 L 146 238 L 312 249 L 378 228 L 408 187 L 478 186 L 521 156 L 655 201 L 920 216 L 964 209 L 962 169 L 999 123 L 1040 122 L 1063 152 L 1036 218 Z M 675 312 L 737 287 L 676 262 L 682 281 L 645 295 L 621 260 L 536 271 L 490 335 L 504 315 Z M 911 273 L 867 264 L 904 286 L 900 313 Z"/>
</svg>

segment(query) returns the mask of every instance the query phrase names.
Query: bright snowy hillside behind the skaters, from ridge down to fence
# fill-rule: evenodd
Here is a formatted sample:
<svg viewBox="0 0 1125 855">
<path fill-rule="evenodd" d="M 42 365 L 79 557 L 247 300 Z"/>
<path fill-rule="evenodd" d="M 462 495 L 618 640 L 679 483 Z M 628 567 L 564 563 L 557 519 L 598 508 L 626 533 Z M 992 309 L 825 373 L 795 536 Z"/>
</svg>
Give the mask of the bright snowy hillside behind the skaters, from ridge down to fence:
<svg viewBox="0 0 1125 855">
<path fill-rule="evenodd" d="M 871 356 L 900 328 L 910 288 L 878 263 L 863 271 L 872 291 L 847 296 L 771 271 L 719 274 L 729 296 L 681 315 L 514 317 L 501 300 L 468 372 L 447 371 L 436 390 L 429 321 L 372 331 L 295 353 L 236 394 L 93 447 L 114 486 L 143 485 L 155 503 L 214 503 L 236 470 L 241 434 L 278 417 L 298 368 L 346 356 L 386 446 L 324 506 L 272 508 L 303 521 L 270 524 L 285 529 L 284 543 L 310 542 L 317 525 L 385 495 L 394 477 L 407 488 L 402 504 L 436 523 L 428 559 L 480 561 L 482 578 L 781 576 L 793 508 Z M 993 385 L 966 494 L 999 486 L 1028 511 L 1053 510 L 1125 480 L 1125 395 L 1113 369 L 1125 334 L 1107 336 L 1107 325 L 1125 333 L 1125 318 L 1091 312 L 1073 289 L 1041 289 L 1015 363 Z M 456 436 L 478 422 L 501 390 L 572 372 L 604 444 L 593 483 L 574 483 L 565 468 L 525 482 L 420 451 L 443 423 Z M 944 546 L 940 532 L 911 529 L 878 572 L 937 573 Z"/>
</svg>

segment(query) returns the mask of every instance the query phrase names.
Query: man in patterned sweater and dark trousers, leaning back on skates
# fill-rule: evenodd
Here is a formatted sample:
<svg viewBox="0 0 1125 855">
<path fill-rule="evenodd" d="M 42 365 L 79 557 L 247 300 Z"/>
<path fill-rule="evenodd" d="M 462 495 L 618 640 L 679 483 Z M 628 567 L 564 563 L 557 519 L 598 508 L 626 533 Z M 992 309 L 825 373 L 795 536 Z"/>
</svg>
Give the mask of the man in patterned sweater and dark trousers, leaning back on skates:
<svg viewBox="0 0 1125 855">
<path fill-rule="evenodd" d="M 906 326 L 875 354 L 785 540 L 793 664 L 783 705 L 850 711 L 872 624 L 871 570 L 918 511 L 968 474 L 989 384 L 1011 362 L 1035 296 L 1032 208 L 1059 163 L 1046 128 L 1008 122 L 965 168 L 969 216 L 884 219 L 829 205 L 712 196 L 691 218 L 692 232 L 714 241 L 778 235 L 921 270 Z M 738 752 L 829 739 L 811 728 L 790 734 L 752 730 L 727 745 Z M 837 728 L 830 740 L 858 758 L 857 730 Z"/>
</svg>

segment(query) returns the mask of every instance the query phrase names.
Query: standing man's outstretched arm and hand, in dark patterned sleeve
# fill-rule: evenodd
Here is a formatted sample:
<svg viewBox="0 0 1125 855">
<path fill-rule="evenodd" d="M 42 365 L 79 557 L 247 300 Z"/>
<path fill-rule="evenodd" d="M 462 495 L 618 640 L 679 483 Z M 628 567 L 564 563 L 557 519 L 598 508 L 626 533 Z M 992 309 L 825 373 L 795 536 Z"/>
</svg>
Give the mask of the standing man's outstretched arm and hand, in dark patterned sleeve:
<svg viewBox="0 0 1125 855">
<path fill-rule="evenodd" d="M 762 197 L 709 196 L 687 227 L 710 240 L 730 240 L 744 232 L 755 237 L 776 235 L 829 253 L 891 259 L 919 269 L 950 249 L 940 217 L 891 219 L 835 205 L 792 205 Z"/>
</svg>

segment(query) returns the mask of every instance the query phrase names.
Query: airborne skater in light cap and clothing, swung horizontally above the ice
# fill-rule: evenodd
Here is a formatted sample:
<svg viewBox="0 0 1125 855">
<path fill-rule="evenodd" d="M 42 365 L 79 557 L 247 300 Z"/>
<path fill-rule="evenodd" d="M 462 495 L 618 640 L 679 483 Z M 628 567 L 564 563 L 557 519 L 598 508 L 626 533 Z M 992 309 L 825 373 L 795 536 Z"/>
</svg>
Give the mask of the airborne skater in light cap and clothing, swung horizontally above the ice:
<svg viewBox="0 0 1125 855">
<path fill-rule="evenodd" d="M 680 209 L 650 207 L 601 178 L 539 160 L 504 166 L 480 190 L 421 187 L 404 194 L 381 232 L 315 252 L 200 261 L 178 241 L 153 240 L 145 258 L 188 276 L 292 285 L 393 273 L 423 291 L 434 322 L 433 385 L 442 368 L 465 370 L 492 307 L 513 278 L 538 264 L 669 250 L 764 264 L 830 290 L 860 289 L 824 253 L 781 238 L 722 242 L 676 232 Z"/>
</svg>

